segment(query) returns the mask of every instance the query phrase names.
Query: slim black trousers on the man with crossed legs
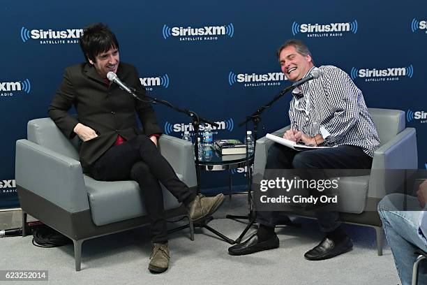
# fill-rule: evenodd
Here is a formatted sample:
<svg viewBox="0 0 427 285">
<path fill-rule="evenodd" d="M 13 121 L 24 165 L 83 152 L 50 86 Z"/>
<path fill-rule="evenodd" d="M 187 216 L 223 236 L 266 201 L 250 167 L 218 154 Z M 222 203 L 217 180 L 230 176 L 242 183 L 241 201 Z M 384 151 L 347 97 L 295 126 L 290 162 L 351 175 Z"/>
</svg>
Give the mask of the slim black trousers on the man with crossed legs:
<svg viewBox="0 0 427 285">
<path fill-rule="evenodd" d="M 181 182 L 174 169 L 160 154 L 156 145 L 145 135 L 108 149 L 91 167 L 96 180 L 135 180 L 142 191 L 147 215 L 151 221 L 153 242 L 167 241 L 167 226 L 163 207 L 161 182 L 179 202 L 188 205 L 195 198 Z"/>
</svg>

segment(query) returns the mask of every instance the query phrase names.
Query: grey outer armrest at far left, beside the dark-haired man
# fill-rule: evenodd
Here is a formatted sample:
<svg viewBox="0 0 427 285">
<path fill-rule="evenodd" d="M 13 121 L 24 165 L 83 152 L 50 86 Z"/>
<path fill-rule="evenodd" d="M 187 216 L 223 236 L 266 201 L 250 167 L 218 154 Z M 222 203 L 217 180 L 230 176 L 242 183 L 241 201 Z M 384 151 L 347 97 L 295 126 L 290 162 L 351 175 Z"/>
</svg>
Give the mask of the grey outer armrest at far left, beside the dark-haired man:
<svg viewBox="0 0 427 285">
<path fill-rule="evenodd" d="M 80 162 L 29 140 L 17 140 L 16 184 L 68 212 L 89 209 Z"/>
</svg>

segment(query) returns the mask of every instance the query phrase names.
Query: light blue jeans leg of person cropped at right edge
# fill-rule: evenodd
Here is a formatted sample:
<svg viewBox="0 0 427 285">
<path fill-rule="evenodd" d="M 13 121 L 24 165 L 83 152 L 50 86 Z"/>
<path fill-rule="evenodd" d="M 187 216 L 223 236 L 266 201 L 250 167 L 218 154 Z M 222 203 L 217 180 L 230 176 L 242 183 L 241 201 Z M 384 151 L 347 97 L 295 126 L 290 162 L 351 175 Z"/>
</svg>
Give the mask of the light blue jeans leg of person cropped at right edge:
<svg viewBox="0 0 427 285">
<path fill-rule="evenodd" d="M 417 254 L 414 251 L 427 251 L 427 240 L 418 235 L 419 223 L 423 214 L 417 198 L 406 196 L 407 208 L 419 211 L 402 211 L 405 196 L 400 193 L 390 194 L 382 198 L 378 204 L 378 212 L 384 226 L 387 242 L 393 253 L 394 263 L 402 285 L 412 282 L 412 265 Z M 419 265 L 418 284 L 427 284 L 427 262 Z"/>
</svg>

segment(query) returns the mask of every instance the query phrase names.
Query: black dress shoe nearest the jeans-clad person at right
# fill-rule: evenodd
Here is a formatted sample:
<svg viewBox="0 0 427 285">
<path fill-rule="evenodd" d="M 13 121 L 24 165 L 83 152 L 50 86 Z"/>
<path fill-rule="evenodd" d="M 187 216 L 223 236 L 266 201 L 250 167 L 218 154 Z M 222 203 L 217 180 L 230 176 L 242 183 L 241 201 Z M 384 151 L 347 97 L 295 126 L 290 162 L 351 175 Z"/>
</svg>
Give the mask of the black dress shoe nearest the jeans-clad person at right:
<svg viewBox="0 0 427 285">
<path fill-rule="evenodd" d="M 352 239 L 347 235 L 338 242 L 334 242 L 334 240 L 329 238 L 324 238 L 320 244 L 317 244 L 316 247 L 307 251 L 304 257 L 309 261 L 321 261 L 350 251 L 352 247 Z"/>
</svg>

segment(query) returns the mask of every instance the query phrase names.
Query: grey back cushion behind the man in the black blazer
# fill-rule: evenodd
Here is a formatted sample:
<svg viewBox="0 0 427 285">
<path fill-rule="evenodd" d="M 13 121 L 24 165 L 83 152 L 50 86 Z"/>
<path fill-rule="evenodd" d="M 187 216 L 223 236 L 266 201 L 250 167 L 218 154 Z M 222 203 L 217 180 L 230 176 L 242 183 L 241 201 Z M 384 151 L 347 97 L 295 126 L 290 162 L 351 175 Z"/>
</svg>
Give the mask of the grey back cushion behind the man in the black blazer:
<svg viewBox="0 0 427 285">
<path fill-rule="evenodd" d="M 31 142 L 80 161 L 77 152 L 78 140 L 75 139 L 72 141 L 66 138 L 50 118 L 32 119 L 29 121 L 27 136 Z"/>
</svg>

